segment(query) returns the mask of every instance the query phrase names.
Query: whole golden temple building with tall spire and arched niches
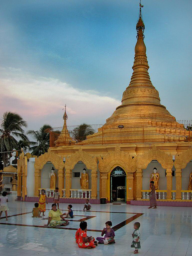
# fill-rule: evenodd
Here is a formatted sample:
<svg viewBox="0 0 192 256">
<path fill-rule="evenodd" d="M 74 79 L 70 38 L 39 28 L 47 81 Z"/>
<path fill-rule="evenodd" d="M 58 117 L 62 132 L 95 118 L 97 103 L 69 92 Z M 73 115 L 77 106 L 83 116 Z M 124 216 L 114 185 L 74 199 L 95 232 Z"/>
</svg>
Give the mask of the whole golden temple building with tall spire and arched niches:
<svg viewBox="0 0 192 256">
<path fill-rule="evenodd" d="M 148 73 L 144 29 L 140 7 L 133 73 L 122 104 L 104 125 L 95 126 L 94 134 L 79 141 L 67 127 L 65 110 L 61 130 L 50 132 L 47 153 L 28 162 L 20 154 L 18 200 L 37 201 L 42 188 L 52 198 L 58 186 L 60 202 L 90 198 L 92 204 L 102 199 L 142 205 L 148 204 L 154 180 L 158 205 L 192 206 L 190 129 L 160 103 Z"/>
</svg>

